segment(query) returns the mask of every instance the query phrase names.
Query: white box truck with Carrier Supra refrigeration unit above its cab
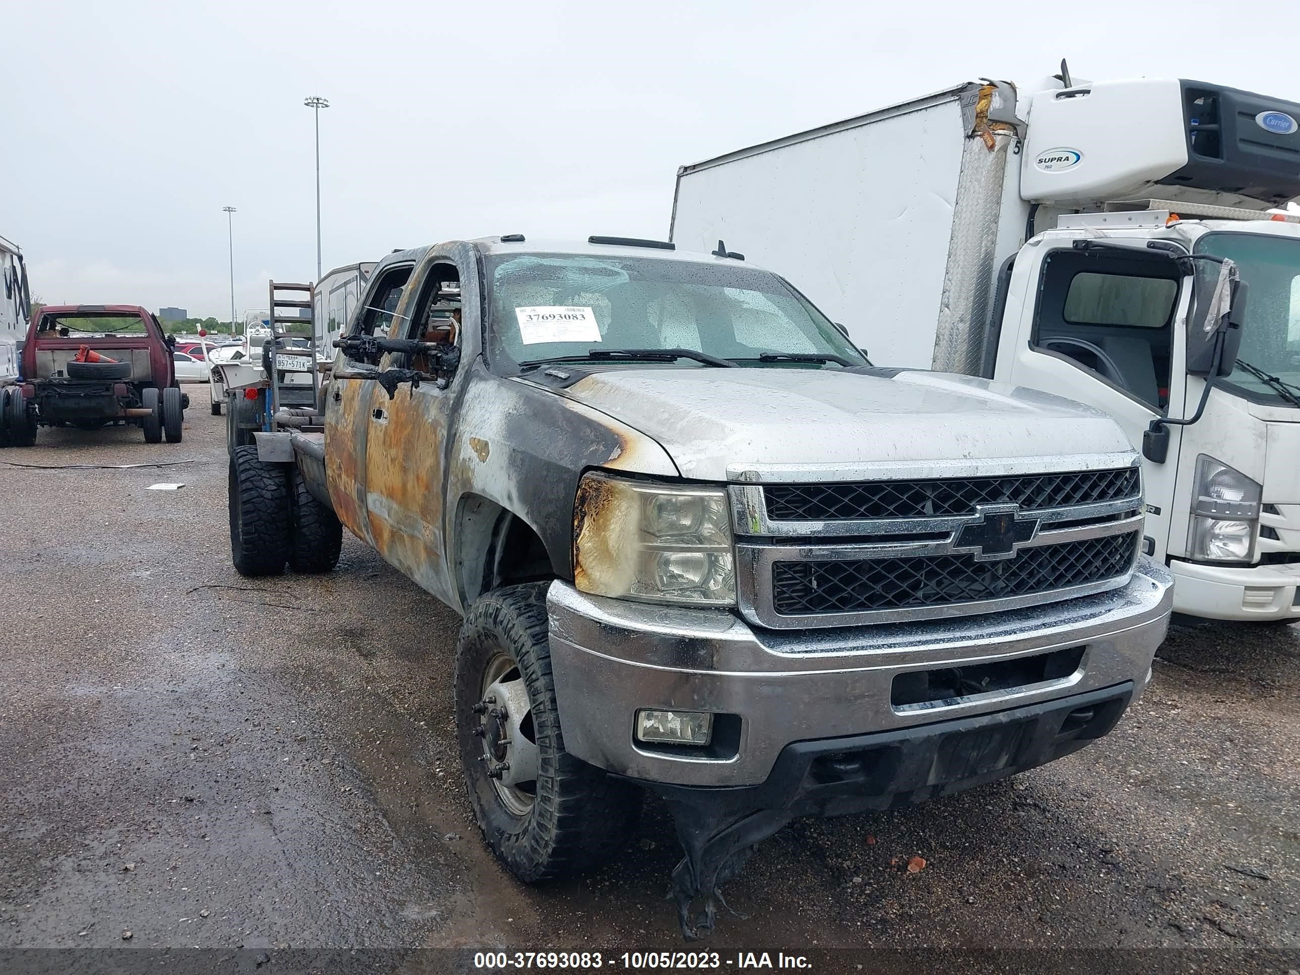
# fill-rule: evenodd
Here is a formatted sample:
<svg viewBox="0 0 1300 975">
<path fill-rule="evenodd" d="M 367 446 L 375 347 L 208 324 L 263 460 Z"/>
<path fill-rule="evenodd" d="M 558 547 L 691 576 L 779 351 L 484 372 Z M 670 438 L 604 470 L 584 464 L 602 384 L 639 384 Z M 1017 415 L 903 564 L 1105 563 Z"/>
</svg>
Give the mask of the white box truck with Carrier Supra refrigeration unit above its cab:
<svg viewBox="0 0 1300 975">
<path fill-rule="evenodd" d="M 1110 413 L 1145 456 L 1143 545 L 1175 610 L 1294 621 L 1300 226 L 1278 208 L 1300 195 L 1297 120 L 1065 66 L 1028 94 L 958 84 L 682 166 L 671 235 L 781 268 L 878 365 Z M 1240 330 L 1212 347 L 1192 294 L 1218 276 Z"/>
</svg>

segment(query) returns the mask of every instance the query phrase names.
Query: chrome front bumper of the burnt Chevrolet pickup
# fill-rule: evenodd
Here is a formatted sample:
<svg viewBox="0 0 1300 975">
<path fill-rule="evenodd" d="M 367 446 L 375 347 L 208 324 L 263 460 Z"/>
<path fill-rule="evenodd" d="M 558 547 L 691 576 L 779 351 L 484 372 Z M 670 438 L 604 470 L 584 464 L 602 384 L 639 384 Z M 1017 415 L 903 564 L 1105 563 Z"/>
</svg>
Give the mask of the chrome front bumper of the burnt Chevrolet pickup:
<svg viewBox="0 0 1300 975">
<path fill-rule="evenodd" d="M 935 623 L 775 632 L 727 611 L 578 593 L 547 595 L 551 666 L 566 749 L 619 775 L 672 785 L 767 780 L 788 745 L 918 728 L 1131 682 L 1141 692 L 1165 638 L 1173 577 L 1141 558 L 1122 589 L 1063 603 Z M 935 702 L 892 703 L 910 671 L 974 666 L 1083 646 L 1065 677 Z M 633 741 L 644 707 L 738 716 L 724 757 Z"/>
</svg>

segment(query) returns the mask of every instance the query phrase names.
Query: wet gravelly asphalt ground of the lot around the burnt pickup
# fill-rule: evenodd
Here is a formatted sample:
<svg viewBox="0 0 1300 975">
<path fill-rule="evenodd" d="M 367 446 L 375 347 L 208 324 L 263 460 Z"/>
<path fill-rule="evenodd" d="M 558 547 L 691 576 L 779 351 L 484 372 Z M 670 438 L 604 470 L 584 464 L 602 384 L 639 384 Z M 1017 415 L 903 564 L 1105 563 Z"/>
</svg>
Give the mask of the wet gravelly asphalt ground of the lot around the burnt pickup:
<svg viewBox="0 0 1300 975">
<path fill-rule="evenodd" d="M 185 442 L 156 446 L 43 429 L 0 452 L 190 462 L 0 465 L 0 949 L 684 948 L 658 802 L 593 875 L 528 888 L 497 866 L 460 785 L 454 614 L 351 537 L 330 576 L 234 572 L 224 422 L 191 410 Z M 1297 629 L 1175 627 L 1145 697 L 1082 753 L 793 823 L 729 885 L 744 916 L 698 946 L 724 968 L 1009 949 L 1018 970 L 1294 972 Z"/>
</svg>

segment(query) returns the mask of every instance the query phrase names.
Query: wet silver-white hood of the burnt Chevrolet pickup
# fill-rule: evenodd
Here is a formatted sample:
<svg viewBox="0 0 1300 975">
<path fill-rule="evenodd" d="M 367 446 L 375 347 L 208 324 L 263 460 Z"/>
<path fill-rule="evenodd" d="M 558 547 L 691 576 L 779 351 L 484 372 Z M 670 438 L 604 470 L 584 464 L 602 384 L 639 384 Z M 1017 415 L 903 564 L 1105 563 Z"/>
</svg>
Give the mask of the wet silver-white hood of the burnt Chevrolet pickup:
<svg viewBox="0 0 1300 975">
<path fill-rule="evenodd" d="M 1009 468 L 1086 469 L 1132 455 L 1118 424 L 1097 410 L 945 373 L 656 367 L 593 373 L 563 394 L 653 437 L 684 477 L 706 481 L 745 471 L 780 478 L 783 468 L 827 478 L 883 468 L 916 476 L 927 462 L 953 472 L 966 459 L 972 472 L 1031 458 Z"/>
</svg>

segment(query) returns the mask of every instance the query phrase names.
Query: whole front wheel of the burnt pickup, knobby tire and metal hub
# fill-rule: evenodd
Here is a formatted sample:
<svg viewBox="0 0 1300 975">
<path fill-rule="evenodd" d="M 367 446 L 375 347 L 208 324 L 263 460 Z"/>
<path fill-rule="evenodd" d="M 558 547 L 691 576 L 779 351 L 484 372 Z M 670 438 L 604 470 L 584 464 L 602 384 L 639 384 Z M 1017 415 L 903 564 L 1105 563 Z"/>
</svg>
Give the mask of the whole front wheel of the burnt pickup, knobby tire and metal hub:
<svg viewBox="0 0 1300 975">
<path fill-rule="evenodd" d="M 641 790 L 564 750 L 546 634 L 547 582 L 474 602 L 456 644 L 460 763 L 474 819 L 526 883 L 576 874 L 615 854 Z"/>
</svg>

